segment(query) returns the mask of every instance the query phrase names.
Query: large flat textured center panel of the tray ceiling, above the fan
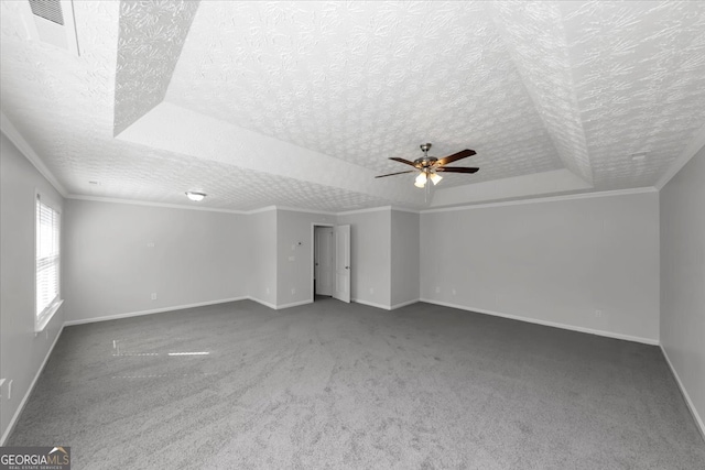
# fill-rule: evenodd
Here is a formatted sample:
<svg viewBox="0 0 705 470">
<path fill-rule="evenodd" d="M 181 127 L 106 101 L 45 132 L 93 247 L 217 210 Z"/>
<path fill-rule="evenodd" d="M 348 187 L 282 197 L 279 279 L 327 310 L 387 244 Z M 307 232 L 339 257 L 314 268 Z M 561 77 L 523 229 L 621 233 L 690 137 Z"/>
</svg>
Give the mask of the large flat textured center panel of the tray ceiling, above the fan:
<svg viewBox="0 0 705 470">
<path fill-rule="evenodd" d="M 204 2 L 166 100 L 381 173 L 424 142 L 563 166 L 481 2 Z"/>
</svg>

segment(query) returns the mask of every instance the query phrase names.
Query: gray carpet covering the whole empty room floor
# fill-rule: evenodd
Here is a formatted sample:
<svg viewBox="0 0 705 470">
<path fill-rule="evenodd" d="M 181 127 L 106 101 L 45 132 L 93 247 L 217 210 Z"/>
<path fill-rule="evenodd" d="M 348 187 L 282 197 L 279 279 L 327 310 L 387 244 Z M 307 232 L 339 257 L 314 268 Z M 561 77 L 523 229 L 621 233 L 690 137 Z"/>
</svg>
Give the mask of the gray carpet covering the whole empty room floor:
<svg viewBox="0 0 705 470">
<path fill-rule="evenodd" d="M 705 468 L 657 347 L 333 299 L 67 327 L 8 445 L 75 469 Z"/>
</svg>

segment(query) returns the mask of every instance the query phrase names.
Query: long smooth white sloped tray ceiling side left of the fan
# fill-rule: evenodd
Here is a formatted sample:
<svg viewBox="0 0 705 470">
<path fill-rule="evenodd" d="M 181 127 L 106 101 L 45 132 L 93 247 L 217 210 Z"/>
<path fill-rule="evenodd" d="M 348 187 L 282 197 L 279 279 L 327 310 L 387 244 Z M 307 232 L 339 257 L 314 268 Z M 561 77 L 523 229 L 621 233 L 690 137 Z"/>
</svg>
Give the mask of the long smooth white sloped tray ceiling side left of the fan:
<svg viewBox="0 0 705 470">
<path fill-rule="evenodd" d="M 381 184 L 375 171 L 163 101 L 119 140 L 248 171 L 365 195 L 388 204 L 423 206 L 412 179 Z M 276 182 L 272 181 L 271 190 Z"/>
</svg>

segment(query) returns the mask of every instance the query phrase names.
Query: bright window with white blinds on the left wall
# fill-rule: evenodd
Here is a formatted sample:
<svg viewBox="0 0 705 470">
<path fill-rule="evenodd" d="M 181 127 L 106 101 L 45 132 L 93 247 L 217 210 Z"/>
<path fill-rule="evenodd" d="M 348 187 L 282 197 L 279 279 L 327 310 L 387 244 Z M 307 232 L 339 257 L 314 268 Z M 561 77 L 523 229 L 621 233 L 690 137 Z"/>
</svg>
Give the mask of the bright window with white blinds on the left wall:
<svg viewBox="0 0 705 470">
<path fill-rule="evenodd" d="M 58 309 L 59 299 L 59 222 L 58 210 L 36 195 L 36 316 L 35 330 L 43 329 Z"/>
</svg>

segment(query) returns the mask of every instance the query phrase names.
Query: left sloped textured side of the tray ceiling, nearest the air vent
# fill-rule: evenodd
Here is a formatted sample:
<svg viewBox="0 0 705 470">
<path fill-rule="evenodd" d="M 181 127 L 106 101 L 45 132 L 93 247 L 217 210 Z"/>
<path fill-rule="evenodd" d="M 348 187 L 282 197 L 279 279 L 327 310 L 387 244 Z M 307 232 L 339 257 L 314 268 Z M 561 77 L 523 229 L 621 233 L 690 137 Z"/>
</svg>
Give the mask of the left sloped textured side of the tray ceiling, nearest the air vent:
<svg viewBox="0 0 705 470">
<path fill-rule="evenodd" d="M 198 4 L 198 0 L 120 2 L 113 135 L 164 99 Z"/>
</svg>

